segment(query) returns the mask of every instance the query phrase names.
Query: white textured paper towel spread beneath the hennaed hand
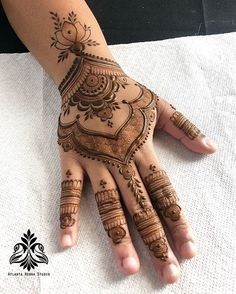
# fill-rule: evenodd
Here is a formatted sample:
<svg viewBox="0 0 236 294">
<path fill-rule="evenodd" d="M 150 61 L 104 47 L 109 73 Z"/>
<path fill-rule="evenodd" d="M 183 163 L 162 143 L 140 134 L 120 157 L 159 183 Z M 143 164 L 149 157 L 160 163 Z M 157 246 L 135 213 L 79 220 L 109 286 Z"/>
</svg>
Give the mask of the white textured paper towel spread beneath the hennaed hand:
<svg viewBox="0 0 236 294">
<path fill-rule="evenodd" d="M 28 54 L 0 55 L 0 293 L 236 293 L 236 33 L 111 46 L 129 75 L 192 119 L 219 146 L 195 154 L 164 133 L 158 156 L 196 232 L 199 254 L 181 279 L 160 283 L 129 219 L 139 273 L 119 273 L 87 185 L 78 247 L 58 246 L 60 96 Z M 13 247 L 30 228 L 45 247 L 50 277 L 11 277 Z"/>
</svg>

